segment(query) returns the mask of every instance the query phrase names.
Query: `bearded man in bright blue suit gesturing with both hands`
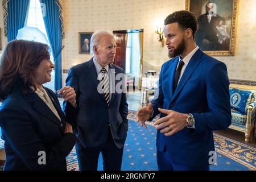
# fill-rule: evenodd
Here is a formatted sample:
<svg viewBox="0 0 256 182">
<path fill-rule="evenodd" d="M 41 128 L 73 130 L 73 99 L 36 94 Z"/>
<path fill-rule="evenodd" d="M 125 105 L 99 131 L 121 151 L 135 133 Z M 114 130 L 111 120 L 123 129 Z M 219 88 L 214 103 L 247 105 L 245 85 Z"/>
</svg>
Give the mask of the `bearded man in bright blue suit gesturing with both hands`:
<svg viewBox="0 0 256 182">
<path fill-rule="evenodd" d="M 142 126 L 154 123 L 159 170 L 209 170 L 214 163 L 213 130 L 230 125 L 226 65 L 195 44 L 196 17 L 176 11 L 164 20 L 169 56 L 159 76 L 158 97 L 137 111 Z M 160 109 L 162 108 L 162 109 Z"/>
</svg>

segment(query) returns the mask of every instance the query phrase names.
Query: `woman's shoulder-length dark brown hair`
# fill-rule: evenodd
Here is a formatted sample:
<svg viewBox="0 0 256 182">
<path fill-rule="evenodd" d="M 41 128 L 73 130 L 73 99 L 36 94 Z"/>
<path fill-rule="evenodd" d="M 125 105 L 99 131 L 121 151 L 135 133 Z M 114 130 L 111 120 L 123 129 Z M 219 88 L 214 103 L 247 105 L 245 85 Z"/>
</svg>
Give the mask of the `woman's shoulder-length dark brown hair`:
<svg viewBox="0 0 256 182">
<path fill-rule="evenodd" d="M 0 64 L 0 99 L 5 100 L 8 94 L 19 88 L 23 93 L 35 86 L 34 72 L 39 64 L 49 59 L 49 46 L 27 40 L 9 42 L 1 57 Z"/>
</svg>

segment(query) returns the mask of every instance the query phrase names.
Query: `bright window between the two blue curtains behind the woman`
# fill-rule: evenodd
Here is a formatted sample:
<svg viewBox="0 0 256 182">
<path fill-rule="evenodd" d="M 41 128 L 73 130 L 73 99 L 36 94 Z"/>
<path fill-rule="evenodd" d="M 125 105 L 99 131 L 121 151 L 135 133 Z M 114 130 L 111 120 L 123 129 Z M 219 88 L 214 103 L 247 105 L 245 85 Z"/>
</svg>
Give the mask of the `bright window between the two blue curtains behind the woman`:
<svg viewBox="0 0 256 182">
<path fill-rule="evenodd" d="M 42 14 L 41 4 L 39 0 L 30 0 L 30 9 L 28 10 L 26 26 L 38 28 L 40 31 L 42 31 L 46 35 L 46 38 L 49 42 L 49 39 L 46 33 L 46 27 L 44 26 L 43 14 Z M 48 44 L 48 46 L 50 45 Z M 51 55 L 51 60 L 53 61 L 52 55 Z M 54 90 L 54 81 L 55 81 L 54 75 L 55 75 L 55 71 L 53 70 L 52 80 L 44 84 L 44 86 L 52 90 Z"/>
</svg>

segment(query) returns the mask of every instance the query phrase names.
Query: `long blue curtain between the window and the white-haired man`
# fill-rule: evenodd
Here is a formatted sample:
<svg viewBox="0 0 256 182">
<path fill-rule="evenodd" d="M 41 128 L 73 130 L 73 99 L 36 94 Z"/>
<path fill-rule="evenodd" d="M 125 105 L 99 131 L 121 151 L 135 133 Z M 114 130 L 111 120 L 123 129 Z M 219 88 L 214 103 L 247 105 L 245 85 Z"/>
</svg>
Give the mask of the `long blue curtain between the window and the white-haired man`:
<svg viewBox="0 0 256 182">
<path fill-rule="evenodd" d="M 62 88 L 62 74 L 61 74 L 61 22 L 60 22 L 60 9 L 55 0 L 40 0 L 46 6 L 45 16 L 43 16 L 44 24 L 49 42 L 52 47 L 52 55 L 55 60 L 55 92 Z"/>
</svg>

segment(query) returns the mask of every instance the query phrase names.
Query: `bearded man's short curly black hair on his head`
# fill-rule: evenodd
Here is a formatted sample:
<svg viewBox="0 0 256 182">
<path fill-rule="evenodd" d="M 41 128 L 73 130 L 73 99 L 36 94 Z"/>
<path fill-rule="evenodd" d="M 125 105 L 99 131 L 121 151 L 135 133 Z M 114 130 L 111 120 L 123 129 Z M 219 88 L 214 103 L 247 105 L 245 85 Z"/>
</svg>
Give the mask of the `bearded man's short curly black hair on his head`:
<svg viewBox="0 0 256 182">
<path fill-rule="evenodd" d="M 195 34 L 197 30 L 197 20 L 196 16 L 191 13 L 190 11 L 175 11 L 174 13 L 168 15 L 166 19 L 164 20 L 164 25 L 170 24 L 170 23 L 178 23 L 178 26 L 185 30 L 187 28 L 191 28 L 193 33 L 193 38 L 195 39 Z"/>
</svg>

